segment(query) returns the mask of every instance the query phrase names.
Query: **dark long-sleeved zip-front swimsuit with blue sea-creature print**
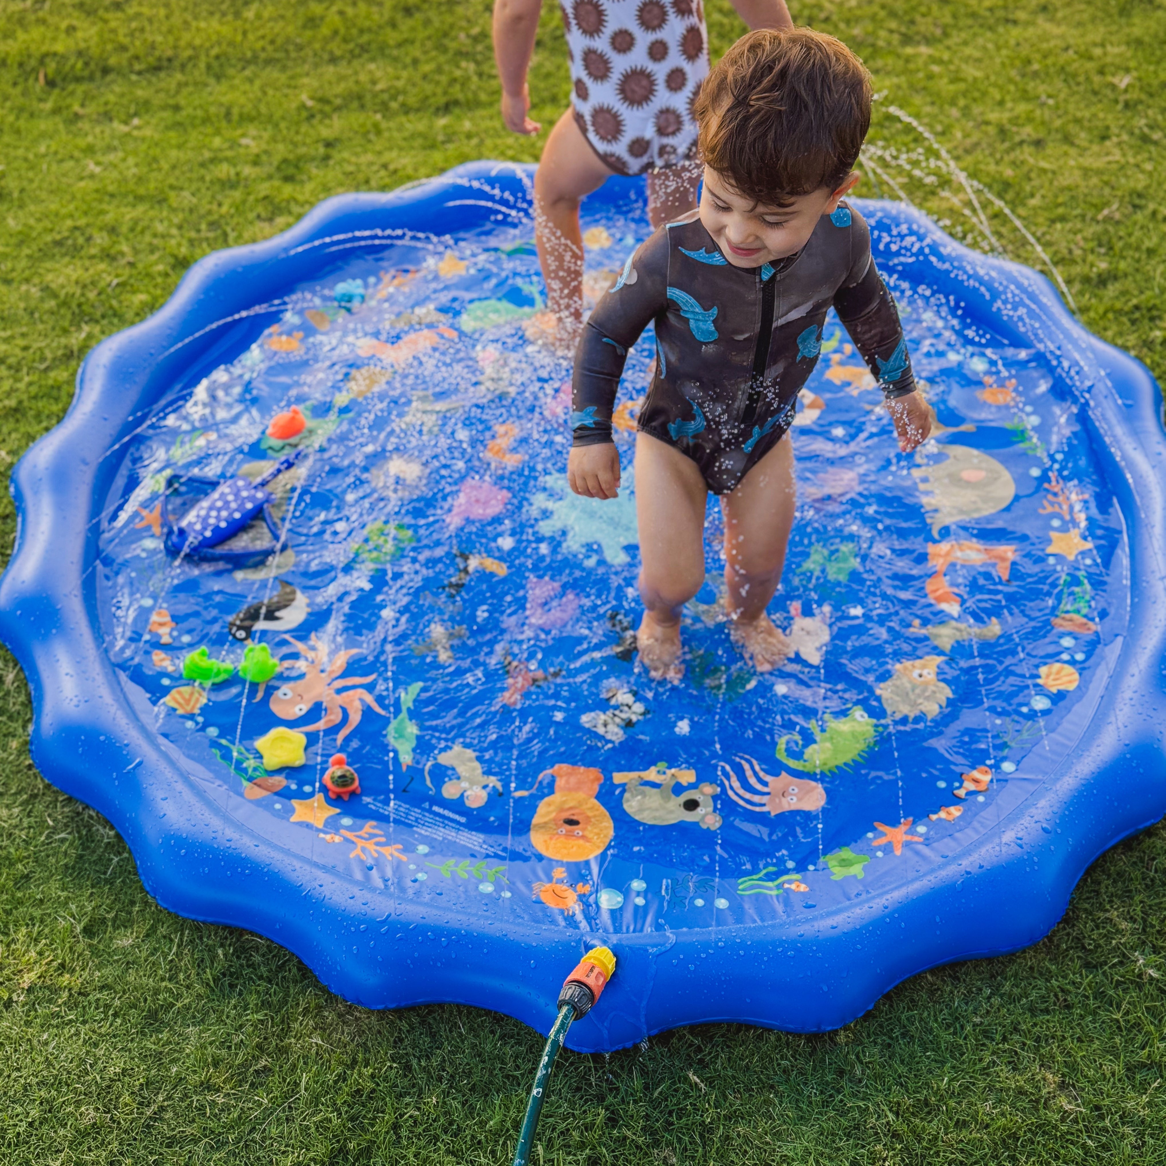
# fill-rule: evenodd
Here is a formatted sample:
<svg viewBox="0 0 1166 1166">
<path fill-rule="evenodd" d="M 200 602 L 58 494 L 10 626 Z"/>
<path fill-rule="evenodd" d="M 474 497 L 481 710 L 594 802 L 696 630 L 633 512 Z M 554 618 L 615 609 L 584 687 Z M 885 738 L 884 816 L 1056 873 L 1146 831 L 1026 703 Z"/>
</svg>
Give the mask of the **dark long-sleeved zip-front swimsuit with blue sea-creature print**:
<svg viewBox="0 0 1166 1166">
<path fill-rule="evenodd" d="M 697 211 L 669 223 L 628 258 L 583 329 L 574 444 L 611 441 L 627 350 L 654 321 L 656 371 L 639 428 L 728 493 L 789 428 L 831 304 L 886 396 L 913 392 L 899 314 L 856 210 L 840 204 L 800 252 L 753 268 L 725 259 Z"/>
</svg>

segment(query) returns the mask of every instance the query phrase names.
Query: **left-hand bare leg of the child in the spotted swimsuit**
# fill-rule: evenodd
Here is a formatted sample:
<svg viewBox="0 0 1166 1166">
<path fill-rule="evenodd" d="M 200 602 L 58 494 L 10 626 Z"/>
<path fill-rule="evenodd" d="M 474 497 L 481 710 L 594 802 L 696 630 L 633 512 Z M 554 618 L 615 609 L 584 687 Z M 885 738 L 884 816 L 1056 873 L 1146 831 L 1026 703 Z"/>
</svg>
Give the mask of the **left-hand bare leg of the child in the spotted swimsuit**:
<svg viewBox="0 0 1166 1166">
<path fill-rule="evenodd" d="M 534 241 L 547 283 L 547 315 L 538 325 L 563 352 L 574 351 L 583 322 L 580 201 L 611 174 L 568 107 L 550 131 L 534 176 Z"/>
</svg>

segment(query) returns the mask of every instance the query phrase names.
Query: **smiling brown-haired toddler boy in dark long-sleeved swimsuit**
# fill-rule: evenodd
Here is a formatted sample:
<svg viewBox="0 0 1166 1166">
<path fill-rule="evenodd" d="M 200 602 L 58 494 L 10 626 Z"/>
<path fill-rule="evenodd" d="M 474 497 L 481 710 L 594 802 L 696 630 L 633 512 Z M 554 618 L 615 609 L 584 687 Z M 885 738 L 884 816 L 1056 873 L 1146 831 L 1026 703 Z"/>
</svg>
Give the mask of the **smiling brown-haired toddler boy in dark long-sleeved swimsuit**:
<svg viewBox="0 0 1166 1166">
<path fill-rule="evenodd" d="M 730 632 L 759 672 L 788 655 L 766 614 L 794 515 L 787 436 L 833 305 L 886 395 L 899 448 L 930 424 L 870 231 L 843 198 L 870 127 L 870 75 L 833 36 L 761 30 L 739 40 L 695 103 L 704 188 L 658 230 L 591 314 L 575 358 L 571 489 L 614 498 L 611 415 L 627 350 L 655 324 L 640 410 L 640 659 L 679 680 L 680 613 L 704 582 L 704 508 L 724 514 Z"/>
</svg>

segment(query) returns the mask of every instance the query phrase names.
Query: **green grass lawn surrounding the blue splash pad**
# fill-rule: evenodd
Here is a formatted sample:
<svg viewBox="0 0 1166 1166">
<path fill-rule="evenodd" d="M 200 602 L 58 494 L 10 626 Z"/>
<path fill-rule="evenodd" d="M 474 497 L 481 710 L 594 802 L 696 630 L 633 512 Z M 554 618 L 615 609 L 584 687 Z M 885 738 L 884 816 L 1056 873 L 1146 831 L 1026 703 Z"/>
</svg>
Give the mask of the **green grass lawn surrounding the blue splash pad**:
<svg viewBox="0 0 1166 1166">
<path fill-rule="evenodd" d="M 708 3 L 719 51 L 739 26 Z M 981 183 L 1083 322 L 1166 374 L 1163 0 L 792 6 L 883 94 L 861 192 L 1040 262 Z M 486 0 L 0 0 L 0 464 L 62 416 L 85 351 L 206 252 L 340 191 L 534 160 L 497 115 L 489 22 Z M 532 91 L 549 125 L 554 10 Z M 7 497 L 0 524 L 8 547 Z M 29 719 L 5 656 L 0 1161 L 510 1161 L 536 1033 L 367 1012 L 266 940 L 159 909 L 108 824 L 37 775 Z M 564 1054 L 535 1160 L 1166 1163 L 1164 915 L 1159 827 L 1102 858 L 1042 943 L 919 976 L 841 1032 Z"/>
</svg>

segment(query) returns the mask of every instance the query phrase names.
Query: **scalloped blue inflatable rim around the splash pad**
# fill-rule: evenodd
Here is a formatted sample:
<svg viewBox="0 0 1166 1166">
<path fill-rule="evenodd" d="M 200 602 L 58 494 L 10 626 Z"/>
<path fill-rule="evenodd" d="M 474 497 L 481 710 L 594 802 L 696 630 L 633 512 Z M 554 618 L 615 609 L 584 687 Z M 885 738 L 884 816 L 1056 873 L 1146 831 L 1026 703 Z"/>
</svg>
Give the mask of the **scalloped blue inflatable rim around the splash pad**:
<svg viewBox="0 0 1166 1166">
<path fill-rule="evenodd" d="M 400 912 L 384 926 L 385 904 L 374 895 L 353 907 L 342 878 L 298 856 L 266 852 L 269 843 L 250 836 L 185 780 L 167 743 L 140 721 L 98 638 L 93 573 L 97 499 L 110 487 L 121 443 L 163 393 L 189 388 L 202 370 L 252 343 L 281 310 L 273 305 L 281 289 L 319 276 L 339 252 L 384 247 L 395 233 L 428 231 L 434 222 L 451 232 L 450 244 L 496 229 L 505 213 L 528 206 L 532 170 L 476 162 L 391 194 L 330 198 L 282 234 L 198 261 L 157 312 L 97 345 L 78 372 L 66 416 L 12 475 L 19 534 L 0 580 L 0 638 L 31 688 L 37 767 L 112 822 L 162 906 L 259 932 L 300 956 L 328 988 L 370 1007 L 463 1003 L 546 1031 L 563 974 L 582 946 L 605 937 L 521 927 L 505 936 L 476 935 L 457 920 L 409 920 Z M 482 197 L 451 204 L 451 183 L 476 184 Z M 635 180 L 612 180 L 593 197 L 628 197 L 635 187 Z M 974 268 L 975 279 L 950 289 L 964 311 L 991 318 L 997 332 L 1009 324 L 993 302 L 1012 292 L 1039 311 L 1047 331 L 1063 337 L 1066 354 L 1093 353 L 1101 377 L 1089 387 L 1083 416 L 1130 547 L 1130 633 L 1117 679 L 1088 739 L 1052 779 L 1034 784 L 997 835 L 936 866 L 922 888 L 807 919 L 796 949 L 823 993 L 813 1009 L 784 1002 L 779 985 L 758 976 L 765 928 L 620 935 L 612 943 L 619 972 L 603 1005 L 570 1033 L 568 1044 L 582 1052 L 708 1021 L 787 1031 L 844 1025 L 919 971 L 1039 940 L 1097 855 L 1166 814 L 1166 436 L 1158 386 L 1142 364 L 1089 335 L 1031 269 L 968 251 L 912 208 L 858 205 L 884 229 L 876 231 L 884 243 L 895 224 L 926 240 L 920 261 L 932 265 L 936 285 L 944 271 Z M 1023 345 L 1027 338 L 1017 325 L 1011 339 Z M 292 898 L 294 913 L 287 909 Z M 912 944 L 895 942 L 899 925 L 913 929 Z M 358 951 L 361 932 L 368 946 Z M 740 977 L 752 990 L 702 995 L 684 970 L 689 958 L 680 956 L 695 958 L 714 944 L 740 949 Z M 451 970 L 457 949 L 464 958 Z M 518 960 L 531 964 L 521 976 L 512 974 Z"/>
</svg>

